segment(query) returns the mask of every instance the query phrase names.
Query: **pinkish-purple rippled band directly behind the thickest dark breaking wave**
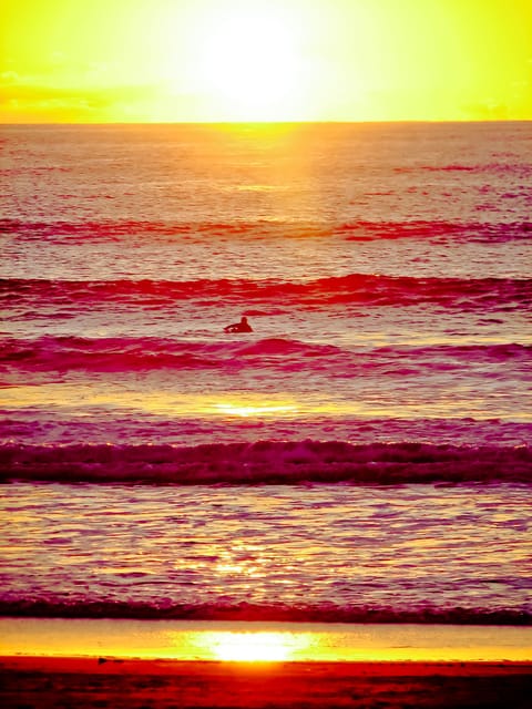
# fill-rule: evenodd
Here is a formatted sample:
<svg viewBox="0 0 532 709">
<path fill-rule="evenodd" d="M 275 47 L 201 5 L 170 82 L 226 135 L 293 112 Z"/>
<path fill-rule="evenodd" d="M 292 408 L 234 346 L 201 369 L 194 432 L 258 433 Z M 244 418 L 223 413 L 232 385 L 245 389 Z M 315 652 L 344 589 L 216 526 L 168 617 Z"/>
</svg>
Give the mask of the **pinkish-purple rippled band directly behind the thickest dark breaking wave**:
<svg viewBox="0 0 532 709">
<path fill-rule="evenodd" d="M 332 433 L 334 432 L 334 433 Z M 178 417 L 171 420 L 156 414 L 113 413 L 108 407 L 92 407 L 82 417 L 69 417 L 53 407 L 0 409 L 0 444 L 68 445 L 80 443 L 170 444 L 191 446 L 213 441 L 254 442 L 326 441 L 351 443 L 392 443 L 417 441 L 452 445 L 528 445 L 532 440 L 532 423 L 500 419 L 371 419 L 356 417 L 314 415 L 288 422 L 283 417 L 252 419 L 247 417 Z"/>
</svg>

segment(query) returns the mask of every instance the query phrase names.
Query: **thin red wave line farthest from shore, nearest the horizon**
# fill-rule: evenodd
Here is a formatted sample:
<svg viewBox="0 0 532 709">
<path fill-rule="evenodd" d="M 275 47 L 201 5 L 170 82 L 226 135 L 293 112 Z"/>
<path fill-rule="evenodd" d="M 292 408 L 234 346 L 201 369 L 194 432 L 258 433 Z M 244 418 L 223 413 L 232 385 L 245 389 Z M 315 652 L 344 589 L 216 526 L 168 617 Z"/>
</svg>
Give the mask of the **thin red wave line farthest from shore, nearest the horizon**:
<svg viewBox="0 0 532 709">
<path fill-rule="evenodd" d="M 442 169 L 430 168 L 424 169 Z M 451 166 L 447 169 L 469 169 Z M 100 220 L 100 222 L 27 222 L 23 219 L 0 219 L 0 234 L 17 235 L 24 240 L 116 242 L 127 238 L 150 236 L 163 240 L 176 238 L 323 238 L 339 237 L 346 240 L 380 239 L 430 239 L 451 238 L 474 243 L 497 243 L 532 238 L 531 222 L 508 223 L 461 223 L 444 220 L 411 219 L 408 222 L 370 222 L 357 219 L 338 224 L 304 222 L 146 222 L 146 220 Z"/>
</svg>

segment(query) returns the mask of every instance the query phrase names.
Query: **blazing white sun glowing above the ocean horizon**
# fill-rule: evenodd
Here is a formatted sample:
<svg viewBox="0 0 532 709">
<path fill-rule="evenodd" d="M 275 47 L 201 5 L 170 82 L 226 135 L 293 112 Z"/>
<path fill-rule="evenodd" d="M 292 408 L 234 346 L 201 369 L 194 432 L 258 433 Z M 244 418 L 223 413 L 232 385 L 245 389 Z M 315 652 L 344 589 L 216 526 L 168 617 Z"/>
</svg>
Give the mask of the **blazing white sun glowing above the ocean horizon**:
<svg viewBox="0 0 532 709">
<path fill-rule="evenodd" d="M 196 23 L 193 82 L 227 121 L 290 121 L 306 113 L 301 25 L 275 3 L 213 6 Z"/>
</svg>

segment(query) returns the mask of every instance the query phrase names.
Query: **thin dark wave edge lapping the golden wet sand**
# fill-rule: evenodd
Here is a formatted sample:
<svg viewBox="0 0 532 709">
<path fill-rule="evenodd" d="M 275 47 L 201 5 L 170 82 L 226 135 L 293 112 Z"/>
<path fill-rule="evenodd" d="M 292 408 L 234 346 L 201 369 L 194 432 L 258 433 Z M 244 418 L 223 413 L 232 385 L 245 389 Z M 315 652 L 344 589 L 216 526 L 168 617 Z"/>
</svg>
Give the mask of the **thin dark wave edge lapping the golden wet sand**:
<svg viewBox="0 0 532 709">
<path fill-rule="evenodd" d="M 369 604 L 339 606 L 335 604 L 297 606 L 253 603 L 134 603 L 133 600 L 79 602 L 51 598 L 0 599 L 0 615 L 30 618 L 131 618 L 166 620 L 239 620 L 296 623 L 416 623 L 448 625 L 532 625 L 532 613 L 513 608 L 438 608 L 388 607 Z"/>
</svg>

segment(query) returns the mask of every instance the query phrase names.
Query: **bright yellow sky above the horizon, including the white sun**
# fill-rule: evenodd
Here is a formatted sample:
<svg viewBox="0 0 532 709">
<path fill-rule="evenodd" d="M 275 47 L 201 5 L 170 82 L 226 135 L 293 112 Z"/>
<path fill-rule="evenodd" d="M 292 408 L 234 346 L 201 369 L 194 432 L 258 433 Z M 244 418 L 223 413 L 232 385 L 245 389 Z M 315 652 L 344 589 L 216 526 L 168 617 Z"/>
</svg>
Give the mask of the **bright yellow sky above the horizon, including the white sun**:
<svg viewBox="0 0 532 709">
<path fill-rule="evenodd" d="M 0 123 L 532 120 L 532 0 L 0 0 Z"/>
</svg>

